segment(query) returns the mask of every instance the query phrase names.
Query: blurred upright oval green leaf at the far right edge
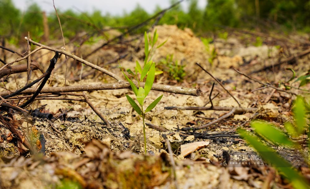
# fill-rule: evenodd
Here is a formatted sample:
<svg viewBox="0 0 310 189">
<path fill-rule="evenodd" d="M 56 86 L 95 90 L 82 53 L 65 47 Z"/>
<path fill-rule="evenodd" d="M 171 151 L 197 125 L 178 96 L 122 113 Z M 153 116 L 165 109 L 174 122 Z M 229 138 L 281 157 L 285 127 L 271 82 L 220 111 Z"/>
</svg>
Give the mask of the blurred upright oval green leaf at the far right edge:
<svg viewBox="0 0 310 189">
<path fill-rule="evenodd" d="M 297 132 L 301 134 L 305 127 L 306 108 L 302 97 L 297 97 L 293 108 L 294 118 L 297 125 Z"/>
</svg>

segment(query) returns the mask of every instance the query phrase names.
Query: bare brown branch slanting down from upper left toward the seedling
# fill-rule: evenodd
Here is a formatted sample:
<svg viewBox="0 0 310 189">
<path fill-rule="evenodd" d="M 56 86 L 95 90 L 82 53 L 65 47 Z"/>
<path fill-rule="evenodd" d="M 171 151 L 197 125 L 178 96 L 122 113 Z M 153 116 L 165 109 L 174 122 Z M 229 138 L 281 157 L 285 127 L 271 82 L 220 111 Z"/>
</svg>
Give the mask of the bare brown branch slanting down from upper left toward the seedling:
<svg viewBox="0 0 310 189">
<path fill-rule="evenodd" d="M 46 46 L 46 45 L 42 45 L 41 43 L 37 43 L 35 41 L 32 41 L 31 39 L 29 39 L 28 37 L 25 37 L 26 40 L 29 40 L 30 43 L 32 43 L 33 45 L 37 45 L 39 47 L 42 47 L 43 49 L 48 49 L 48 50 L 51 50 L 51 51 L 58 51 L 59 53 L 61 54 L 64 54 L 70 58 L 73 58 L 74 60 L 78 61 L 78 62 L 81 62 L 91 68 L 94 68 L 98 71 L 101 71 L 102 73 L 106 74 L 106 75 L 109 75 L 110 77 L 116 79 L 118 82 L 122 81 L 122 78 L 120 78 L 119 76 L 115 75 L 114 73 L 102 68 L 102 67 L 99 67 L 95 64 L 92 64 L 91 62 L 88 62 L 82 58 L 79 58 L 78 56 L 75 56 L 74 54 L 71 54 L 71 53 L 68 53 L 67 51 L 64 51 L 64 50 L 60 50 L 60 49 L 55 49 L 55 48 L 52 48 L 52 47 L 49 47 L 49 46 Z"/>
</svg>

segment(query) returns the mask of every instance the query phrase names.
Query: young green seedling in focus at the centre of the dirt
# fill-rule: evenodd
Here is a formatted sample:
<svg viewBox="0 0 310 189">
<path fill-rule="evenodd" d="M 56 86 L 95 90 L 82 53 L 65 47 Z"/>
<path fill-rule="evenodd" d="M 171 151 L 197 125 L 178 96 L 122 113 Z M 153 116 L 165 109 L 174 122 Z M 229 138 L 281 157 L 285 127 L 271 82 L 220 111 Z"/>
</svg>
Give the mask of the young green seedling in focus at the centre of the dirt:
<svg viewBox="0 0 310 189">
<path fill-rule="evenodd" d="M 122 69 L 122 68 L 121 68 Z M 144 66 L 143 70 L 141 71 L 141 77 L 139 78 L 139 75 L 137 74 L 137 67 L 135 67 L 135 73 L 131 71 L 130 69 L 127 69 L 127 72 L 130 75 L 133 75 L 135 79 L 138 81 L 138 88 L 135 86 L 135 84 L 132 82 L 131 79 L 127 77 L 127 75 L 124 73 L 122 70 L 123 74 L 125 75 L 125 78 L 129 82 L 133 92 L 135 93 L 136 99 L 139 103 L 139 105 L 130 97 L 126 94 L 127 100 L 129 101 L 130 105 L 133 107 L 133 109 L 142 117 L 143 120 L 143 135 L 144 135 L 144 149 L 145 149 L 145 154 L 147 153 L 146 151 L 146 135 L 145 135 L 145 122 L 144 122 L 144 114 L 147 113 L 148 111 L 153 110 L 153 108 L 158 104 L 158 102 L 162 99 L 162 95 L 158 97 L 156 100 L 154 100 L 148 107 L 144 110 L 143 105 L 144 105 L 144 99 L 145 97 L 148 96 L 148 93 L 150 92 L 153 83 L 154 83 L 154 78 L 155 78 L 155 62 L 149 61 L 146 63 Z M 143 81 L 143 79 L 146 76 L 146 81 L 144 88 L 140 86 L 140 82 Z"/>
</svg>

